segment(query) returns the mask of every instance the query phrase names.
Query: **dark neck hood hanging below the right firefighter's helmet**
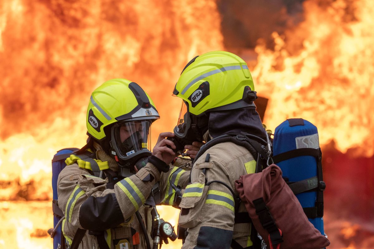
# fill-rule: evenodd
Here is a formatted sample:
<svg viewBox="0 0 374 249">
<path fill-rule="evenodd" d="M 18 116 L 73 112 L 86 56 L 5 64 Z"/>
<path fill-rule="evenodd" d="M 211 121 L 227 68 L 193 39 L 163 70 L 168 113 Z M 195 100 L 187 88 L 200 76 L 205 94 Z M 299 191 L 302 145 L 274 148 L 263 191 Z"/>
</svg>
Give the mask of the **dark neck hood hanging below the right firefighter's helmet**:
<svg viewBox="0 0 374 249">
<path fill-rule="evenodd" d="M 210 112 L 208 130 L 213 138 L 244 131 L 266 140 L 266 132 L 255 107 Z"/>
</svg>

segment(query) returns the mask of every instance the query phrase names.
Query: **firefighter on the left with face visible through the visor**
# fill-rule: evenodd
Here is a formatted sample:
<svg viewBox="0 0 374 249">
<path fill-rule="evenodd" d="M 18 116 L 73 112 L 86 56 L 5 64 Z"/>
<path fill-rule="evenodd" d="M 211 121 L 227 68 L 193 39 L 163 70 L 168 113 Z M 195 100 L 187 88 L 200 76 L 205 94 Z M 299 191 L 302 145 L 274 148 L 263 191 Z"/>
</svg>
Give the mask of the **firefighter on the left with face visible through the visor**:
<svg viewBox="0 0 374 249">
<path fill-rule="evenodd" d="M 109 80 L 93 91 L 88 143 L 66 159 L 58 177 L 69 248 L 150 249 L 160 239 L 175 239 L 169 224 L 163 224 L 165 231 L 154 230 L 156 235 L 152 231 L 154 219 L 162 223 L 154 206 L 175 205 L 170 183 L 186 186 L 191 163 L 166 147 L 175 148 L 165 139 L 172 133 L 160 134 L 153 154 L 148 150 L 150 127 L 158 118 L 153 101 L 134 82 Z M 199 150 L 197 145 L 191 148 Z"/>
</svg>

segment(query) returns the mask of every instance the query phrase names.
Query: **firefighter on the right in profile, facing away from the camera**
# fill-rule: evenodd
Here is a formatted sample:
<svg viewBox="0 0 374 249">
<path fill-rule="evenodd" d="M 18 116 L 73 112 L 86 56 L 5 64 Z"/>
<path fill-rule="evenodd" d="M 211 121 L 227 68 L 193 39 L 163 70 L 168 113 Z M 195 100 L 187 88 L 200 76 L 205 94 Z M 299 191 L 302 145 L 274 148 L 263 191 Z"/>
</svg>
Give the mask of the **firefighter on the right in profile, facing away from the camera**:
<svg viewBox="0 0 374 249">
<path fill-rule="evenodd" d="M 240 175 L 254 173 L 254 152 L 231 141 L 209 145 L 225 134 L 266 139 L 247 64 L 223 51 L 196 56 L 183 69 L 173 94 L 183 100 L 175 138 L 208 142 L 197 154 L 190 184 L 182 191 L 178 225 L 188 232 L 183 248 L 261 248 L 254 245 L 257 233 L 253 228 L 251 232 L 234 185 Z"/>
</svg>

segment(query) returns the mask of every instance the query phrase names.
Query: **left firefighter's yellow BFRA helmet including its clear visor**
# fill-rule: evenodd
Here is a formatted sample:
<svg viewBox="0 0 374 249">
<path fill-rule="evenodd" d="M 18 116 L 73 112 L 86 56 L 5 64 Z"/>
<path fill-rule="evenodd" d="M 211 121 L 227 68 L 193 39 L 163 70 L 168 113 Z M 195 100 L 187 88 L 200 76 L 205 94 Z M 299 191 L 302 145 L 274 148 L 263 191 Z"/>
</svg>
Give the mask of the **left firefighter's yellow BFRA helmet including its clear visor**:
<svg viewBox="0 0 374 249">
<path fill-rule="evenodd" d="M 150 126 L 159 118 L 152 99 L 137 83 L 118 78 L 92 92 L 86 125 L 89 136 L 99 142 L 110 141 L 110 154 L 127 160 L 141 152 L 150 153 Z M 131 135 L 126 141 L 123 131 Z"/>
</svg>

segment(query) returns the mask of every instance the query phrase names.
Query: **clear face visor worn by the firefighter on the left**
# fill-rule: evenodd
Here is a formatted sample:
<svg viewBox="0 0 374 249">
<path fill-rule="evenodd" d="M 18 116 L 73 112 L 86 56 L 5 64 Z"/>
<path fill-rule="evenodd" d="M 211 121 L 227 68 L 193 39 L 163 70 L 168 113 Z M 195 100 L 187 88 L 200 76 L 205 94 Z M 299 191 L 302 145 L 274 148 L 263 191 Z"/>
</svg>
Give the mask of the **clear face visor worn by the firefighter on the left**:
<svg viewBox="0 0 374 249">
<path fill-rule="evenodd" d="M 114 128 L 114 141 L 117 153 L 131 156 L 143 149 L 150 149 L 151 122 L 129 121 Z"/>
</svg>

